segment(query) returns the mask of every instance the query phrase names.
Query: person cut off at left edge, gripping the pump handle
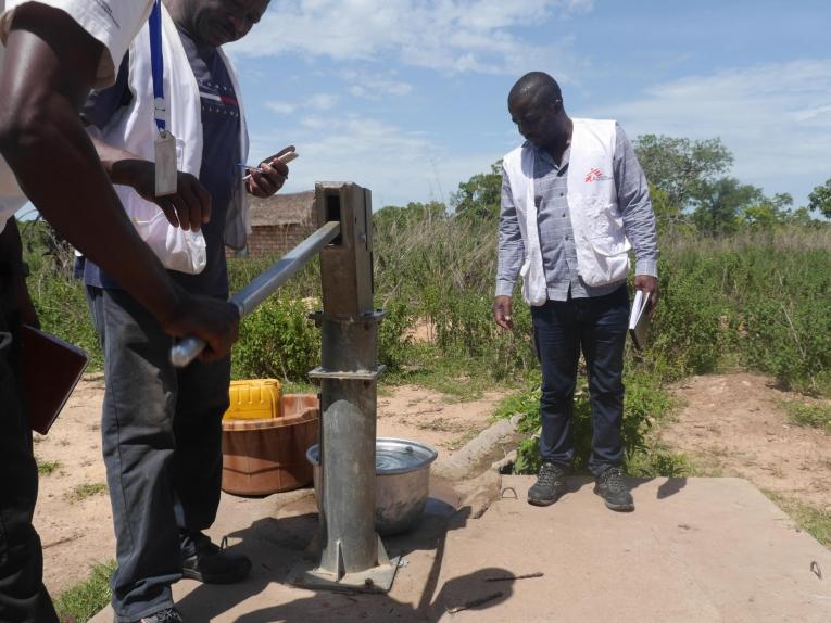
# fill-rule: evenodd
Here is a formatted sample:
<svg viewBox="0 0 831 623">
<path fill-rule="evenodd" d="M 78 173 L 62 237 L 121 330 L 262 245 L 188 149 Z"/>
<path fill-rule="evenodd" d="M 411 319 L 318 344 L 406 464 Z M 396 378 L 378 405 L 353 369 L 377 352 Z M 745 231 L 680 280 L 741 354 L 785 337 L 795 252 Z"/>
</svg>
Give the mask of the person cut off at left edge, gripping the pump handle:
<svg viewBox="0 0 831 623">
<path fill-rule="evenodd" d="M 58 623 L 32 526 L 37 465 L 21 392 L 21 321 L 37 325 L 14 220 L 24 194 L 73 245 L 111 271 L 172 335 L 205 357 L 236 339 L 231 305 L 187 294 L 137 236 L 78 118 L 115 79 L 150 0 L 0 0 L 0 621 Z"/>
</svg>

